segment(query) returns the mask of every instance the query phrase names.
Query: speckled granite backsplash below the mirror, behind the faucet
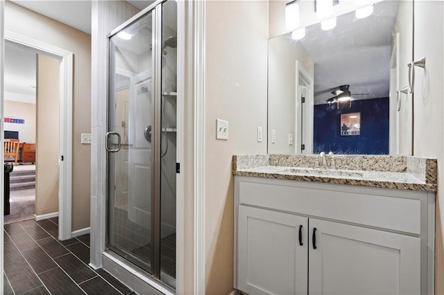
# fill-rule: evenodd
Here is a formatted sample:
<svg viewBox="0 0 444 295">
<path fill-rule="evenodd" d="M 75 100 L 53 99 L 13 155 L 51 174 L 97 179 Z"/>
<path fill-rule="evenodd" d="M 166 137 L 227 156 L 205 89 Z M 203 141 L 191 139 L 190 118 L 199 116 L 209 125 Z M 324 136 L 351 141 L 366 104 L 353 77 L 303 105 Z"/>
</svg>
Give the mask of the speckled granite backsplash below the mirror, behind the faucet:
<svg viewBox="0 0 444 295">
<path fill-rule="evenodd" d="M 306 154 L 271 154 L 270 166 L 314 167 L 316 159 Z M 334 156 L 337 169 L 407 172 L 407 159 L 404 156 Z"/>
</svg>

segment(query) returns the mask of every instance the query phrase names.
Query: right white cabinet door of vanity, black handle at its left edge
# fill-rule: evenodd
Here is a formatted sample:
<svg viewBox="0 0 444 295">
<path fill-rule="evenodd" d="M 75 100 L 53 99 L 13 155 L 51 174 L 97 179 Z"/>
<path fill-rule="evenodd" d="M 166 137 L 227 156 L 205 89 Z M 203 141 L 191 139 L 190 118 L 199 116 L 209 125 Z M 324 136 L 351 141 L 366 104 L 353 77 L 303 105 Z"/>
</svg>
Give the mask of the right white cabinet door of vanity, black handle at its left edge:
<svg viewBox="0 0 444 295">
<path fill-rule="evenodd" d="M 421 293 L 420 238 L 310 218 L 309 240 L 309 294 Z"/>
</svg>

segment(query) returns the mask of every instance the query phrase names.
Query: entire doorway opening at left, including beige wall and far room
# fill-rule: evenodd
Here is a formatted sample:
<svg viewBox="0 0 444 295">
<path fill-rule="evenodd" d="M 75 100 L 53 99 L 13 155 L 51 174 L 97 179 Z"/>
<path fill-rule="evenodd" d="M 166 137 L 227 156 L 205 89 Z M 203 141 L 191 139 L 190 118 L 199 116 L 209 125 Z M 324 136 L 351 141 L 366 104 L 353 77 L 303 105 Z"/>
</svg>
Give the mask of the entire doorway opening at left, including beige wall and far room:
<svg viewBox="0 0 444 295">
<path fill-rule="evenodd" d="M 15 166 L 4 224 L 58 217 L 60 61 L 12 42 L 5 49 L 4 137 L 18 150 L 5 155 Z"/>
</svg>

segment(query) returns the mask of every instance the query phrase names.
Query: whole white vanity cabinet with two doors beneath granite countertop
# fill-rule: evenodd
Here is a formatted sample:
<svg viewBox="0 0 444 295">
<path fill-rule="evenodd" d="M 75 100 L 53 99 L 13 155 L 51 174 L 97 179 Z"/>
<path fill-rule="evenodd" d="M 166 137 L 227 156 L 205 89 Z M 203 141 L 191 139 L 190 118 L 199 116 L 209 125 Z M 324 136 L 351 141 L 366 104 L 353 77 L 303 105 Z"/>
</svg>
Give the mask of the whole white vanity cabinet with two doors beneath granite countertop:
<svg viewBox="0 0 444 295">
<path fill-rule="evenodd" d="M 434 193 L 235 177 L 234 287 L 433 294 Z"/>
</svg>

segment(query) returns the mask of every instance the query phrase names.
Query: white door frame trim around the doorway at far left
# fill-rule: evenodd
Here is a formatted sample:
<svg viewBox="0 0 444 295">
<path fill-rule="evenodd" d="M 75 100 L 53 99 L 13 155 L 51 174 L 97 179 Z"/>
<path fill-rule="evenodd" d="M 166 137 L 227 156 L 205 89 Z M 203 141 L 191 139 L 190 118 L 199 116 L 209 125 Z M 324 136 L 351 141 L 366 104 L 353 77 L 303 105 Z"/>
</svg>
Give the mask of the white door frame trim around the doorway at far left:
<svg viewBox="0 0 444 295">
<path fill-rule="evenodd" d="M 1 31 L 1 30 L 0 30 Z M 73 100 L 73 70 L 74 54 L 65 49 L 45 44 L 43 42 L 4 31 L 3 42 L 11 42 L 33 48 L 44 55 L 50 55 L 60 60 L 60 99 L 59 99 L 59 181 L 58 181 L 58 238 L 67 240 L 71 238 L 71 207 L 72 207 L 72 100 Z M 3 53 L 4 54 L 4 53 Z M 2 69 L 3 66 L 1 66 Z M 2 73 L 3 75 L 3 73 Z M 1 87 L 3 89 L 3 87 Z M 2 90 L 3 91 L 3 90 Z M 3 96 L 1 109 L 3 111 Z M 3 118 L 3 115 L 1 116 Z M 3 141 L 3 122 L 1 123 L 1 136 Z M 2 145 L 3 146 L 3 145 Z M 3 152 L 1 152 L 3 157 Z M 3 204 L 4 195 L 0 203 Z M 0 225 L 3 228 L 3 220 Z M 0 286 L 1 287 L 1 286 Z"/>
</svg>

